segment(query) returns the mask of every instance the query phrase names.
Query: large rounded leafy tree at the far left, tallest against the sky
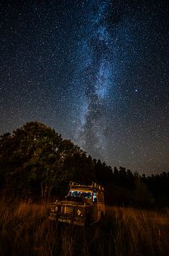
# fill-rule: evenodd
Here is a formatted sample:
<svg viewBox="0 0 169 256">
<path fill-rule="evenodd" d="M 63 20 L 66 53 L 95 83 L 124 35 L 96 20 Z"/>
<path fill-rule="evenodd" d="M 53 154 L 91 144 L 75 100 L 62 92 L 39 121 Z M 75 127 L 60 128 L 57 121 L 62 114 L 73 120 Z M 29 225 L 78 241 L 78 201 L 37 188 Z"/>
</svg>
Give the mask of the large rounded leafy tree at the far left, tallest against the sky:
<svg viewBox="0 0 169 256">
<path fill-rule="evenodd" d="M 18 191 L 41 188 L 41 195 L 45 196 L 49 181 L 55 176 L 54 164 L 61 143 L 61 135 L 40 122 L 28 122 L 13 134 L 4 134 L 0 159 L 7 181 Z"/>
</svg>

